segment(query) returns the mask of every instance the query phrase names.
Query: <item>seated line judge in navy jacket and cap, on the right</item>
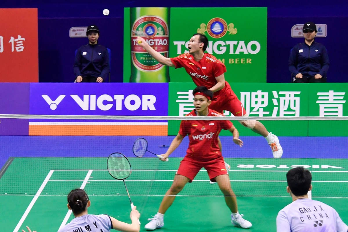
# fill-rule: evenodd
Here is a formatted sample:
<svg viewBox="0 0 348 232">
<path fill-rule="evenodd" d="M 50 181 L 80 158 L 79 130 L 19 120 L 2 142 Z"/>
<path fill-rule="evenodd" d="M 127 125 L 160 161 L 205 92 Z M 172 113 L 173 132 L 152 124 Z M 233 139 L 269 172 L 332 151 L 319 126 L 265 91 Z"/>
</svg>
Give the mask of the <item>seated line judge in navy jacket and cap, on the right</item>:
<svg viewBox="0 0 348 232">
<path fill-rule="evenodd" d="M 289 70 L 292 82 L 326 82 L 329 69 L 329 56 L 324 45 L 314 41 L 317 27 L 313 22 L 303 25 L 304 42 L 291 49 Z"/>
</svg>

